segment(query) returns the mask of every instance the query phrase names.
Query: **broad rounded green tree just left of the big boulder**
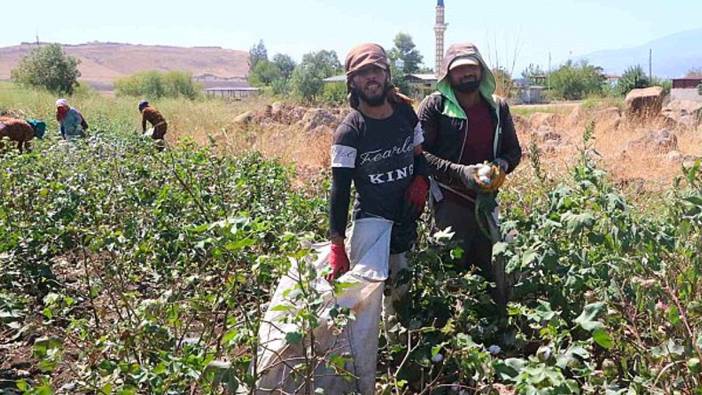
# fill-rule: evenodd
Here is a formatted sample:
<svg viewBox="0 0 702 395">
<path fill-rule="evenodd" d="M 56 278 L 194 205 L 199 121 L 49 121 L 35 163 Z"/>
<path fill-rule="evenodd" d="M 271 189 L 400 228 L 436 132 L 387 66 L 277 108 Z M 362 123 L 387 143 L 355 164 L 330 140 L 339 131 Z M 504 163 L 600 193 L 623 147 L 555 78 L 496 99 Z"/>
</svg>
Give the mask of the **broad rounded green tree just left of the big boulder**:
<svg viewBox="0 0 702 395">
<path fill-rule="evenodd" d="M 601 93 L 605 80 L 601 67 L 569 60 L 550 74 L 551 94 L 566 100 L 583 99 Z"/>
</svg>

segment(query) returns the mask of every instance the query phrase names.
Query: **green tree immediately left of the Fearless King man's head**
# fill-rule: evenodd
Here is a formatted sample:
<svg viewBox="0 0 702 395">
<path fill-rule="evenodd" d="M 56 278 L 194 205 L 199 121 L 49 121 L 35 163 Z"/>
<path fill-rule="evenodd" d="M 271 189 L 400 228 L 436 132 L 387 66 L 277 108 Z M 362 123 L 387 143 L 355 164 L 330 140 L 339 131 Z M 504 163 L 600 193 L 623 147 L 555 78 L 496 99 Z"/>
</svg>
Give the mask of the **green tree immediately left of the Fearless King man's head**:
<svg viewBox="0 0 702 395">
<path fill-rule="evenodd" d="M 317 100 L 324 86 L 322 80 L 339 74 L 342 70 L 335 51 L 321 50 L 305 54 L 292 74 L 293 91 L 304 100 Z"/>
</svg>

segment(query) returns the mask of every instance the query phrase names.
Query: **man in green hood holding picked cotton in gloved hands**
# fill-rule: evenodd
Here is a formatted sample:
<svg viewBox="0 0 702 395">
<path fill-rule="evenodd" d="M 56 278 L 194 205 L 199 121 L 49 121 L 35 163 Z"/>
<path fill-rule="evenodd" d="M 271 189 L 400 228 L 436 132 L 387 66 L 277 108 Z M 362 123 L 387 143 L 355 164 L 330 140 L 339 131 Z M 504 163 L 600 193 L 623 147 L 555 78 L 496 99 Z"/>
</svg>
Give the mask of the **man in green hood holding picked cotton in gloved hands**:
<svg viewBox="0 0 702 395">
<path fill-rule="evenodd" d="M 494 93 L 495 77 L 478 48 L 455 44 L 443 58 L 437 92 L 424 99 L 418 115 L 424 130 L 424 155 L 433 176 L 435 224 L 440 229 L 451 227 L 464 250 L 459 269 L 476 265 L 483 277 L 497 283 L 491 293 L 504 307 L 508 293 L 504 272 L 493 270 L 492 264 L 492 246 L 499 230 L 490 237 L 476 210 L 480 198 L 487 196 L 495 202 L 504 178 L 491 186 L 481 185 L 476 172 L 479 164 L 488 162 L 496 172 L 510 173 L 522 151 L 509 106 Z M 488 217 L 496 224 L 496 209 Z"/>
</svg>

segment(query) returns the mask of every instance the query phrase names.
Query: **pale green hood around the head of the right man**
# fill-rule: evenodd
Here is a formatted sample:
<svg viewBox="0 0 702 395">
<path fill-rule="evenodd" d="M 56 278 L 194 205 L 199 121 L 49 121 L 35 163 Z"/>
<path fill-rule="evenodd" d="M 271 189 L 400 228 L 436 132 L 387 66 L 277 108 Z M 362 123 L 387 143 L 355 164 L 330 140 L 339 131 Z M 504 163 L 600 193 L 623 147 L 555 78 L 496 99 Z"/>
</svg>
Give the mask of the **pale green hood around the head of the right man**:
<svg viewBox="0 0 702 395">
<path fill-rule="evenodd" d="M 454 44 L 449 47 L 446 51 L 446 56 L 444 56 L 441 62 L 441 70 L 439 73 L 439 82 L 436 85 L 437 90 L 447 99 L 444 100 L 443 114 L 452 118 L 467 119 L 466 113 L 463 108 L 458 103 L 456 95 L 451 88 L 451 84 L 448 82 L 448 69 L 454 60 L 466 56 L 474 56 L 480 61 L 483 66 L 483 79 L 480 82 L 480 94 L 485 98 L 485 100 L 497 110 L 497 102 L 495 101 L 494 94 L 497 84 L 495 83 L 495 76 L 492 71 L 485 63 L 485 60 L 480 55 L 478 48 L 470 43 Z"/>
</svg>

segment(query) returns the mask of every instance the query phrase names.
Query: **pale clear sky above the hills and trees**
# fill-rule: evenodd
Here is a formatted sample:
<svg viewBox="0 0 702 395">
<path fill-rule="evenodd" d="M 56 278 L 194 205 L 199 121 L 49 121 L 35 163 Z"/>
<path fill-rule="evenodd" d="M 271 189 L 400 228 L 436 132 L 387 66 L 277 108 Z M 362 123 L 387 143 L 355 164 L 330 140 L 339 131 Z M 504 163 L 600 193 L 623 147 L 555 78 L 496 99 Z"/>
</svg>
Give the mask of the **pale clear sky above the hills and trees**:
<svg viewBox="0 0 702 395">
<path fill-rule="evenodd" d="M 67 5 L 68 4 L 68 5 Z M 436 0 L 163 0 L 15 1 L 3 18 L 0 46 L 23 41 L 111 41 L 248 50 L 263 40 L 269 55 L 386 48 L 398 32 L 412 36 L 434 64 Z M 521 73 L 570 57 L 618 49 L 702 26 L 700 0 L 445 0 L 446 43 L 472 41 L 493 66 Z M 37 10 L 41 10 L 37 12 Z"/>
</svg>

